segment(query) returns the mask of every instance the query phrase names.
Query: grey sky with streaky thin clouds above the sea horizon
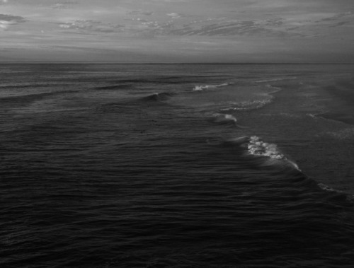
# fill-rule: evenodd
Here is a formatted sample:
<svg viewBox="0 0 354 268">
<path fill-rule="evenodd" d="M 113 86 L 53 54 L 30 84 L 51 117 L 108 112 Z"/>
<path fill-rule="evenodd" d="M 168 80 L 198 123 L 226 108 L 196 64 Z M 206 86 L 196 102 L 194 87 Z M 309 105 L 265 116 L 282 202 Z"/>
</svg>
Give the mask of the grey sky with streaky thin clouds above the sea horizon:
<svg viewBox="0 0 354 268">
<path fill-rule="evenodd" d="M 0 62 L 354 62 L 353 0 L 0 0 Z"/>
</svg>

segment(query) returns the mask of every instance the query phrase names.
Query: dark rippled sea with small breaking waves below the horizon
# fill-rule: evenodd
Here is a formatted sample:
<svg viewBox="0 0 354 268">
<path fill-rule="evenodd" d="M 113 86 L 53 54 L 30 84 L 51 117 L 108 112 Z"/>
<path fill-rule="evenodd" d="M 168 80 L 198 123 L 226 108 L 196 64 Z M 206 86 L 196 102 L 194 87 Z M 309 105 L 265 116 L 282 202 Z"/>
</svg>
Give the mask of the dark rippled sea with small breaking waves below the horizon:
<svg viewBox="0 0 354 268">
<path fill-rule="evenodd" d="M 0 267 L 353 267 L 353 65 L 2 64 Z"/>
</svg>

